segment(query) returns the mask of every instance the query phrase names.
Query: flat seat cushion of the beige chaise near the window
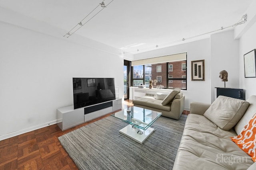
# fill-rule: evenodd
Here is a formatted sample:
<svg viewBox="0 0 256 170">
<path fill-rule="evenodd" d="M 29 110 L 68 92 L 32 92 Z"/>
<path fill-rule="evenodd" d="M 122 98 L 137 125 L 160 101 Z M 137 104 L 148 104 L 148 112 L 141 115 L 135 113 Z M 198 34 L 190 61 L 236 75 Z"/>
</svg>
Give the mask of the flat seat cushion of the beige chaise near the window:
<svg viewBox="0 0 256 170">
<path fill-rule="evenodd" d="M 156 100 L 152 97 L 138 98 L 138 99 L 133 101 L 133 104 L 153 107 L 153 108 L 160 109 L 160 110 L 165 110 L 165 111 L 170 111 L 171 110 L 171 105 L 170 104 L 168 104 L 166 106 L 163 106 L 162 105 L 162 100 Z"/>
</svg>

